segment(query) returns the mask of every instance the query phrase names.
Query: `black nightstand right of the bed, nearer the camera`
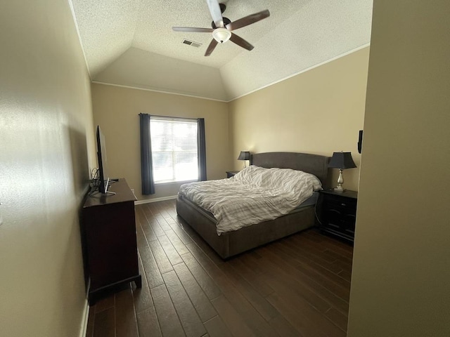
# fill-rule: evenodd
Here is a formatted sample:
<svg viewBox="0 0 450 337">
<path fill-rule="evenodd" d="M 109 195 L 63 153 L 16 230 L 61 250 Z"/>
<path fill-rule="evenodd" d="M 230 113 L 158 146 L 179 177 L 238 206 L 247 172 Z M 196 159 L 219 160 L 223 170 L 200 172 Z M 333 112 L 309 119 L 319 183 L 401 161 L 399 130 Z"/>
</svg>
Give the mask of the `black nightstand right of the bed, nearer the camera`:
<svg viewBox="0 0 450 337">
<path fill-rule="evenodd" d="M 321 231 L 345 239 L 347 242 L 353 242 L 357 201 L 358 192 L 356 191 L 320 191 L 318 213 Z"/>
</svg>

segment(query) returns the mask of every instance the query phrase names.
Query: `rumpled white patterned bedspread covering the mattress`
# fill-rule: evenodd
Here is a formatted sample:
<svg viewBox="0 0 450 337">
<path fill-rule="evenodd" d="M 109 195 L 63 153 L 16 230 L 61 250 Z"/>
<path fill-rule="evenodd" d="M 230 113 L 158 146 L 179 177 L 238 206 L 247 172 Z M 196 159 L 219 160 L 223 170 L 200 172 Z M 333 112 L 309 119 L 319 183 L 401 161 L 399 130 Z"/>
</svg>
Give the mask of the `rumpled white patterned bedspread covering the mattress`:
<svg viewBox="0 0 450 337">
<path fill-rule="evenodd" d="M 233 178 L 181 185 L 179 193 L 214 215 L 220 235 L 283 216 L 321 189 L 310 173 L 249 166 Z"/>
</svg>

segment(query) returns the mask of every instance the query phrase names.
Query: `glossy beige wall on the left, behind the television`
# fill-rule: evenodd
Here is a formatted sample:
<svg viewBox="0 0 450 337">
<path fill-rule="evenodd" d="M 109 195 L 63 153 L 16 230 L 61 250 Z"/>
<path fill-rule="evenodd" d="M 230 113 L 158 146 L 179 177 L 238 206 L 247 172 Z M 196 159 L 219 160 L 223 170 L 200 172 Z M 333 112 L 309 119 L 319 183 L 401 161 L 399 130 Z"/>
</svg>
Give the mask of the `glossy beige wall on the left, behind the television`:
<svg viewBox="0 0 450 337">
<path fill-rule="evenodd" d="M 0 7 L 0 335 L 79 336 L 89 77 L 68 1 Z"/>
</svg>

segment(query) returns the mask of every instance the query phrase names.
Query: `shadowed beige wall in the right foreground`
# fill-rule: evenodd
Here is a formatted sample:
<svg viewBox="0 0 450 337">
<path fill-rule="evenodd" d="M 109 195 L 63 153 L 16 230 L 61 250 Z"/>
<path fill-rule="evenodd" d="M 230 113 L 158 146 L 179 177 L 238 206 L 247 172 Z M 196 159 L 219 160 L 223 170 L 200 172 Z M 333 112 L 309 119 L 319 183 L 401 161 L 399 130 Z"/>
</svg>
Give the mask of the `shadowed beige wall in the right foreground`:
<svg viewBox="0 0 450 337">
<path fill-rule="evenodd" d="M 350 337 L 450 336 L 449 13 L 374 1 Z"/>
</svg>

